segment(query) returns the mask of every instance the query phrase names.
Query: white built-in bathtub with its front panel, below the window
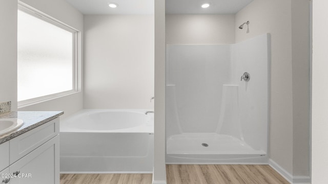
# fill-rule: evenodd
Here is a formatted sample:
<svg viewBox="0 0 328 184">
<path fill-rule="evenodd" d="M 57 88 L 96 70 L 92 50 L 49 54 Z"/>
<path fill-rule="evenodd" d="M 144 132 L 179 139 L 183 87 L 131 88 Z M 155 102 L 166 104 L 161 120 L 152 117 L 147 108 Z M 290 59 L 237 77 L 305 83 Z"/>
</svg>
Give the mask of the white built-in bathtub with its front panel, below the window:
<svg viewBox="0 0 328 184">
<path fill-rule="evenodd" d="M 83 109 L 60 120 L 60 173 L 152 173 L 149 109 Z"/>
</svg>

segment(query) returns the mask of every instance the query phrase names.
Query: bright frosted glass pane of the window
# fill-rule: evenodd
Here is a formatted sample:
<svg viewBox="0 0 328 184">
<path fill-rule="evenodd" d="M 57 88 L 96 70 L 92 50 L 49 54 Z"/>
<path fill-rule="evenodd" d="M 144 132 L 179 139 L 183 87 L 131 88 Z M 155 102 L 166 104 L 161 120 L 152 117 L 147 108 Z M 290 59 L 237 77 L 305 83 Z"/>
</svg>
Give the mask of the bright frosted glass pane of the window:
<svg viewBox="0 0 328 184">
<path fill-rule="evenodd" d="M 73 89 L 73 33 L 18 11 L 18 101 Z"/>
</svg>

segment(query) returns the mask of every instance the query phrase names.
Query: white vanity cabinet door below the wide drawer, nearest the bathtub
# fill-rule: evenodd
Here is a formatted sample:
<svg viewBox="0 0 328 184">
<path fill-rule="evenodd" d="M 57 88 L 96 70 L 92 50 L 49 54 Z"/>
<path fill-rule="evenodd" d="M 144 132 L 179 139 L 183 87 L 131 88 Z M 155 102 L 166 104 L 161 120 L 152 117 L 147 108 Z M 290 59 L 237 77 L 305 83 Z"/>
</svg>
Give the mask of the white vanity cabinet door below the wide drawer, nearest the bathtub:
<svg viewBox="0 0 328 184">
<path fill-rule="evenodd" d="M 9 171 L 19 172 L 11 184 L 59 184 L 59 135 L 20 158 Z"/>
</svg>

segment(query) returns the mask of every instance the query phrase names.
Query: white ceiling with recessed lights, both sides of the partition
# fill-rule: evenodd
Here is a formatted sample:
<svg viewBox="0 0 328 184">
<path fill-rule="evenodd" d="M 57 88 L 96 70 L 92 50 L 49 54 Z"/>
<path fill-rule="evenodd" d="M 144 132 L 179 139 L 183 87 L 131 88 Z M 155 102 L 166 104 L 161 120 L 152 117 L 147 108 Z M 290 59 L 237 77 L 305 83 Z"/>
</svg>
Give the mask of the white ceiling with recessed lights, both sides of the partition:
<svg viewBox="0 0 328 184">
<path fill-rule="evenodd" d="M 154 14 L 154 0 L 66 0 L 83 14 Z M 166 0 L 168 14 L 234 14 L 253 0 Z M 108 3 L 118 4 L 117 8 Z M 201 8 L 210 3 L 209 8 Z"/>
</svg>

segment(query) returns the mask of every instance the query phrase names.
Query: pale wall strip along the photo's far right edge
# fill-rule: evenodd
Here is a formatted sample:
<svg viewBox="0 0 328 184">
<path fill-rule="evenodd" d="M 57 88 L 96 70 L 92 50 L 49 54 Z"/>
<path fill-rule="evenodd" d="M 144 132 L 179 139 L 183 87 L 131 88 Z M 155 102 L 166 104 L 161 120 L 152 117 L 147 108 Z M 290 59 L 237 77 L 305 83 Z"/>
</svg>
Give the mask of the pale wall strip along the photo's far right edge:
<svg viewBox="0 0 328 184">
<path fill-rule="evenodd" d="M 328 181 L 328 1 L 313 1 L 312 184 Z"/>
</svg>

